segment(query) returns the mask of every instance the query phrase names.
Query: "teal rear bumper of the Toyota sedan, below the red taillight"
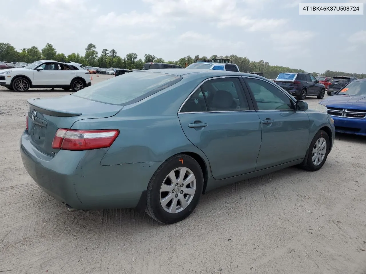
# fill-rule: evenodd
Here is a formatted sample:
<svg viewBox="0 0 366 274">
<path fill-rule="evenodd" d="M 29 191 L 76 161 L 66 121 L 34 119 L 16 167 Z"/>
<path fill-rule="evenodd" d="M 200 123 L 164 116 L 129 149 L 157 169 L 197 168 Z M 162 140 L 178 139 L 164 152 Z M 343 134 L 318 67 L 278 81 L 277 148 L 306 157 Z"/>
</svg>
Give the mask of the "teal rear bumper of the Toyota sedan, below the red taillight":
<svg viewBox="0 0 366 274">
<path fill-rule="evenodd" d="M 75 209 L 135 208 L 162 162 L 100 164 L 107 149 L 38 151 L 28 131 L 20 138 L 20 154 L 28 174 L 45 193 Z"/>
</svg>

